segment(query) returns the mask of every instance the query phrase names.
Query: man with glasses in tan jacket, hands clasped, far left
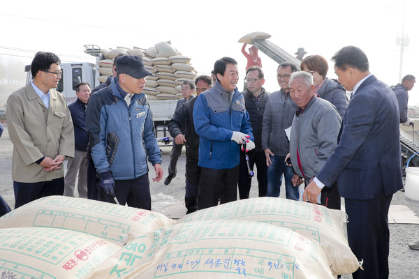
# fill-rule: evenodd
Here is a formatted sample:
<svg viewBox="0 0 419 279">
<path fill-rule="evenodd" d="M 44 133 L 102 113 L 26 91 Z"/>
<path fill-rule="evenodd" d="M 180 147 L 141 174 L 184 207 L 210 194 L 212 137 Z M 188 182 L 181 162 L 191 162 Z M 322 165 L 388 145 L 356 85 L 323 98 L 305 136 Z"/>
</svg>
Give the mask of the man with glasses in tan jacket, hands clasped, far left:
<svg viewBox="0 0 419 279">
<path fill-rule="evenodd" d="M 60 63 L 51 52 L 36 53 L 31 63 L 34 80 L 7 100 L 15 209 L 64 193 L 61 164 L 74 156 L 74 130 L 66 99 L 54 89 L 62 75 Z"/>
</svg>

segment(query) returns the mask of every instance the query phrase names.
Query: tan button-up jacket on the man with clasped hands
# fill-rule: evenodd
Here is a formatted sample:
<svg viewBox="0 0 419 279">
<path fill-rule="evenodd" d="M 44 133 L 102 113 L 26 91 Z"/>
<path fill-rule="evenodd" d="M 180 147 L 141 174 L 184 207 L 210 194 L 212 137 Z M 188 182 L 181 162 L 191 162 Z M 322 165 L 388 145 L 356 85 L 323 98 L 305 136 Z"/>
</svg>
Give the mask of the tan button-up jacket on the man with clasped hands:
<svg viewBox="0 0 419 279">
<path fill-rule="evenodd" d="M 10 94 L 7 124 L 13 143 L 12 179 L 33 183 L 64 176 L 64 166 L 45 172 L 37 160 L 57 155 L 74 157 L 74 130 L 66 98 L 50 89 L 50 109 L 31 83 Z"/>
</svg>

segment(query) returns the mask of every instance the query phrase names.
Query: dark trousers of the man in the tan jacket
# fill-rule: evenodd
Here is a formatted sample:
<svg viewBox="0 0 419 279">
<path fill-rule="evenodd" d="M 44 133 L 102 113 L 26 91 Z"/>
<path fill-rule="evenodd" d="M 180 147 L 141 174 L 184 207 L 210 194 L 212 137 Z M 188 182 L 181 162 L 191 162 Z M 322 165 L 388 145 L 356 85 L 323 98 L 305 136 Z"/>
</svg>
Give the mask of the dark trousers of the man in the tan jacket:
<svg viewBox="0 0 419 279">
<path fill-rule="evenodd" d="M 13 181 L 13 190 L 15 191 L 15 209 L 17 209 L 41 197 L 64 195 L 64 177 L 32 183 Z"/>
</svg>

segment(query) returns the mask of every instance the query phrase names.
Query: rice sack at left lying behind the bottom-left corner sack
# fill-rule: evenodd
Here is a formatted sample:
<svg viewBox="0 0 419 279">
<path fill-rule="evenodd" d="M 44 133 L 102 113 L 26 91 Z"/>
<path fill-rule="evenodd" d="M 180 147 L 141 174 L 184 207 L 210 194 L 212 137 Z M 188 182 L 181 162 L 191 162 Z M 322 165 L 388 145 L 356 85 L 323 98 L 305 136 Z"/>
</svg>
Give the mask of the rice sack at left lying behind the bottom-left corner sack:
<svg viewBox="0 0 419 279">
<path fill-rule="evenodd" d="M 175 223 L 161 213 L 77 197 L 49 196 L 7 213 L 0 227 L 52 227 L 101 237 L 124 246 L 151 229 Z"/>
</svg>

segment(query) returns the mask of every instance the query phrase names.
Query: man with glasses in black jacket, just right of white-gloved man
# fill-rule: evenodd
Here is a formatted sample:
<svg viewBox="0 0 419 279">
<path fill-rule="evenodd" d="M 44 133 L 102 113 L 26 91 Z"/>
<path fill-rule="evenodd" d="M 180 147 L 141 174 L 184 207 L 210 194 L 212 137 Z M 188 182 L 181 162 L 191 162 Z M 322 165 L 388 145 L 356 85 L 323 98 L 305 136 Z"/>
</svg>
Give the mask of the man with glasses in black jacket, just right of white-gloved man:
<svg viewBox="0 0 419 279">
<path fill-rule="evenodd" d="M 267 191 L 267 166 L 265 152 L 262 149 L 262 121 L 267 96 L 269 93 L 262 87 L 265 83 L 263 70 L 259 66 L 252 66 L 246 71 L 247 90 L 242 92 L 249 112 L 251 128 L 255 137 L 255 149 L 248 152 L 249 167 L 258 169 L 259 197 L 265 197 Z M 240 199 L 249 198 L 251 177 L 247 169 L 244 151 L 240 152 L 239 196 Z"/>
</svg>

